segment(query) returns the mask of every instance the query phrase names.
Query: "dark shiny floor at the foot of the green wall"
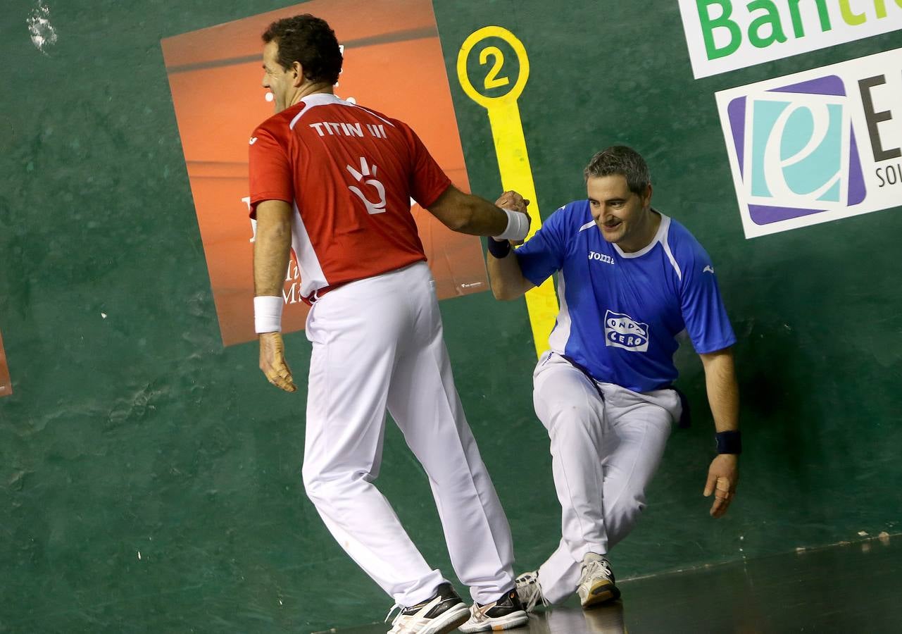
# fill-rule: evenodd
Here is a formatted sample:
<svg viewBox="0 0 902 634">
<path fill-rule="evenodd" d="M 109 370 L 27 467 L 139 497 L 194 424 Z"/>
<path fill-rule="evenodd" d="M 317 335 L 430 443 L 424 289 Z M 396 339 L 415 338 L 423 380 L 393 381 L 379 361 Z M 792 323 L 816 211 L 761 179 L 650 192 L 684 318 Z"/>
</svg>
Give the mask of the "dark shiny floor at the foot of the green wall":
<svg viewBox="0 0 902 634">
<path fill-rule="evenodd" d="M 902 538 L 805 550 L 619 584 L 622 598 L 575 600 L 511 634 L 902 632 Z M 382 634 L 388 624 L 339 630 Z M 336 631 L 336 630 L 331 630 Z"/>
</svg>

